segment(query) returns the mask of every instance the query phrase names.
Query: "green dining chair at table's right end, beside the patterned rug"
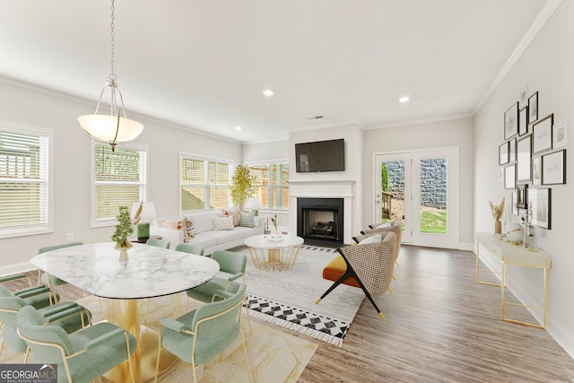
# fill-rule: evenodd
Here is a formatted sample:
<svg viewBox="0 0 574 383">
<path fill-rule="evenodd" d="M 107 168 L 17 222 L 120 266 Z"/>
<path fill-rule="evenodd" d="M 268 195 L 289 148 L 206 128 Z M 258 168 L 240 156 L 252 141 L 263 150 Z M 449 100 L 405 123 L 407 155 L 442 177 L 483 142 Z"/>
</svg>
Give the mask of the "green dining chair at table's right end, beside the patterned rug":
<svg viewBox="0 0 574 383">
<path fill-rule="evenodd" d="M 204 303 L 211 302 L 216 298 L 215 294 L 217 292 L 234 293 L 238 291 L 242 283 L 245 283 L 245 269 L 248 264 L 248 256 L 246 254 L 227 250 L 215 250 L 213 251 L 212 259 L 219 264 L 220 274 L 206 283 L 187 290 L 187 298 L 199 300 Z M 239 283 L 240 278 L 242 279 L 242 283 Z M 187 303 L 188 302 L 187 300 Z M 251 331 L 251 319 L 249 318 L 247 299 L 244 305 L 248 314 L 249 331 Z M 186 304 L 186 311 L 187 307 Z"/>
</svg>

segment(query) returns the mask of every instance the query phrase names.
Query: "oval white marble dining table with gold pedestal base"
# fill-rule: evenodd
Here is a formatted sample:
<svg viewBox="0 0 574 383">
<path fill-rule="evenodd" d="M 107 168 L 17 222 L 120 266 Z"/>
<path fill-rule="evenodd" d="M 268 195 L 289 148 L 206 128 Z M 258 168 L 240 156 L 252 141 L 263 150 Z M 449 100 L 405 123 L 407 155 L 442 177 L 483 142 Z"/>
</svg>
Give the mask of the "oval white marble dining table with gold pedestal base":
<svg viewBox="0 0 574 383">
<path fill-rule="evenodd" d="M 135 380 L 146 381 L 155 373 L 157 332 L 141 323 L 141 301 L 184 292 L 213 278 L 219 264 L 209 257 L 135 243 L 129 259 L 119 260 L 113 242 L 58 248 L 30 259 L 30 264 L 66 283 L 108 300 L 108 321 L 129 331 L 138 340 L 132 357 Z M 160 371 L 168 370 L 175 355 L 161 351 Z M 106 374 L 112 382 L 127 381 L 126 363 Z"/>
</svg>

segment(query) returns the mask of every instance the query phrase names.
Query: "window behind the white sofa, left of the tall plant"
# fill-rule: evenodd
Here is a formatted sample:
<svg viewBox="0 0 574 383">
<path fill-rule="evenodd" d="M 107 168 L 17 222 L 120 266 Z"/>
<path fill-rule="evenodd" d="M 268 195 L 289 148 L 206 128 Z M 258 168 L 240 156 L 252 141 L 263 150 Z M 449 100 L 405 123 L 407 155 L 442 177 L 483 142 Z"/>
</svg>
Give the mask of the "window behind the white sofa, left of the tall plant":
<svg viewBox="0 0 574 383">
<path fill-rule="evenodd" d="M 230 206 L 231 163 L 181 154 L 179 185 L 181 211 Z"/>
</svg>

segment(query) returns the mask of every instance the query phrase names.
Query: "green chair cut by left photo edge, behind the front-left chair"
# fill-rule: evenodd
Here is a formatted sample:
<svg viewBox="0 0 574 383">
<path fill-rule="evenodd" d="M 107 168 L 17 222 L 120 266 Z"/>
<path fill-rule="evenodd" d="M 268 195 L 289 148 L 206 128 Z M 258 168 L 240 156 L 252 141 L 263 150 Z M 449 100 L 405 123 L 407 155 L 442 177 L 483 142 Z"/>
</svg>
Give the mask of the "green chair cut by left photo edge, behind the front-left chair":
<svg viewBox="0 0 574 383">
<path fill-rule="evenodd" d="M 49 302 L 48 297 L 44 299 Z M 0 286 L 0 321 L 2 321 L 0 354 L 4 350 L 4 343 L 16 353 L 24 353 L 26 351 L 26 343 L 18 336 L 16 331 L 16 315 L 24 306 L 27 306 L 26 300 L 10 295 L 10 292 L 7 292 L 4 286 Z M 55 305 L 39 309 L 38 312 L 44 324 L 61 326 L 68 334 L 91 324 L 91 312 L 75 302 L 58 302 Z M 28 353 L 26 353 L 24 362 L 27 359 Z"/>
</svg>

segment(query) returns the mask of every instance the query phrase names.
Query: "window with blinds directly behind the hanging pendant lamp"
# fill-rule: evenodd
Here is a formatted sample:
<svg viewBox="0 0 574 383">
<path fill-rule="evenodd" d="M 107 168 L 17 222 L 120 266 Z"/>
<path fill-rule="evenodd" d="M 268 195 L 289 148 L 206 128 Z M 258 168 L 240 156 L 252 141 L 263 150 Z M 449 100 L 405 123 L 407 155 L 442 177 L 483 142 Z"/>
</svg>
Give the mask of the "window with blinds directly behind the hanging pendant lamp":
<svg viewBox="0 0 574 383">
<path fill-rule="evenodd" d="M 119 206 L 130 209 L 145 201 L 147 147 L 122 145 L 111 151 L 108 144 L 93 144 L 94 195 L 92 226 L 116 224 Z"/>
</svg>

